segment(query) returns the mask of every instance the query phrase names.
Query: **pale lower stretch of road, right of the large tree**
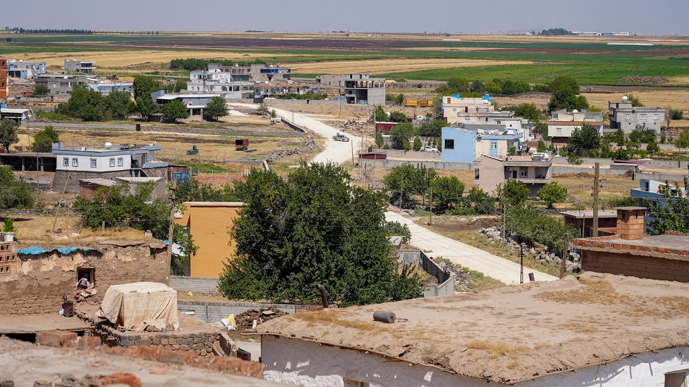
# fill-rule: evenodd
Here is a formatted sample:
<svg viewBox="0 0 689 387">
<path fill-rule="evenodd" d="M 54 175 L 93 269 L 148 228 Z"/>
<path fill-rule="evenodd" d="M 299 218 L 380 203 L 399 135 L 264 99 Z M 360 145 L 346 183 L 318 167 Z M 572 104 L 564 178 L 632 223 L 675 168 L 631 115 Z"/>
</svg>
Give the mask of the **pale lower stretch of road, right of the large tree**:
<svg viewBox="0 0 689 387">
<path fill-rule="evenodd" d="M 415 224 L 411 219 L 405 218 L 400 213 L 387 211 L 385 218 L 407 224 L 411 231 L 410 244 L 418 247 L 426 254 L 433 257 L 447 258 L 452 262 L 461 264 L 471 270 L 480 271 L 484 275 L 500 280 L 506 284 L 520 283 L 520 265 L 515 262 L 500 258 L 496 255 L 469 246 L 457 240 L 446 238 L 429 229 Z M 431 251 L 428 253 L 427 251 Z M 554 281 L 557 277 L 532 269 L 524 269 L 524 282 L 528 282 L 528 273 L 533 273 L 537 281 Z"/>
</svg>

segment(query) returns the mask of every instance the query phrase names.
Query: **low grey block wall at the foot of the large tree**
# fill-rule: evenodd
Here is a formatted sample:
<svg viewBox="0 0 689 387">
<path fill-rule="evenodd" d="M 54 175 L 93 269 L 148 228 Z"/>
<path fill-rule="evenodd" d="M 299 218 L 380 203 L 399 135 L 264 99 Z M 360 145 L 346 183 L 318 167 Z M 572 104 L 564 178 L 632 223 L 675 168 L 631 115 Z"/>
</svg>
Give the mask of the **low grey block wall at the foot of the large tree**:
<svg viewBox="0 0 689 387">
<path fill-rule="evenodd" d="M 194 317 L 205 322 L 216 322 L 229 314 L 238 315 L 249 309 L 276 308 L 285 313 L 310 311 L 321 305 L 267 304 L 260 302 L 211 302 L 211 301 L 177 301 L 179 311 L 194 311 Z"/>
</svg>

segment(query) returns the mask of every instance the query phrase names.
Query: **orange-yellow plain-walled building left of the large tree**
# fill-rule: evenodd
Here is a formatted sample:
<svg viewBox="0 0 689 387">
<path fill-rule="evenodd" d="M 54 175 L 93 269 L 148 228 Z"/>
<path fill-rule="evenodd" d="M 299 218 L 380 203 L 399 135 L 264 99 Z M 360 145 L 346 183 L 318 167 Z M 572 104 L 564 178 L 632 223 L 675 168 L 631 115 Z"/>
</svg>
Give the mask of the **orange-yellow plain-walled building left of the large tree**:
<svg viewBox="0 0 689 387">
<path fill-rule="evenodd" d="M 227 231 L 244 207 L 243 202 L 185 202 L 181 218 L 175 222 L 187 227 L 198 246 L 195 255 L 189 258 L 191 277 L 219 277 L 223 273 L 227 258 L 236 254 L 234 243 Z"/>
</svg>

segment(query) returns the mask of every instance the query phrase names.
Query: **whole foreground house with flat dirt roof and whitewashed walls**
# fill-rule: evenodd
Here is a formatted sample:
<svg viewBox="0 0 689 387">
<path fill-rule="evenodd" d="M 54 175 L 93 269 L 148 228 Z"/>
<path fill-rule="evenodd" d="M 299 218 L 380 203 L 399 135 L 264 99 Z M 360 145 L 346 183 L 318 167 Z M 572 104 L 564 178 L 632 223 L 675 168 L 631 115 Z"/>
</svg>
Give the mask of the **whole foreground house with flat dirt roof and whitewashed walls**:
<svg viewBox="0 0 689 387">
<path fill-rule="evenodd" d="M 586 272 L 296 313 L 258 326 L 263 374 L 306 387 L 679 387 L 689 347 L 677 297 L 688 291 L 679 282 Z M 393 322 L 374 320 L 380 312 Z"/>
</svg>

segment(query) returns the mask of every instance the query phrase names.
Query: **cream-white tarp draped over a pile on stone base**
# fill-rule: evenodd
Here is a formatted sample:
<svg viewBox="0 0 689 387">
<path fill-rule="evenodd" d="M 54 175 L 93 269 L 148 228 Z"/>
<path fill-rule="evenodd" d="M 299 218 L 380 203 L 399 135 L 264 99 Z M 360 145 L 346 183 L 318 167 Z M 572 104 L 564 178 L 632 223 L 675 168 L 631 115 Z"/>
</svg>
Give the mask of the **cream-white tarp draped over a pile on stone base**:
<svg viewBox="0 0 689 387">
<path fill-rule="evenodd" d="M 139 328 L 144 320 L 163 320 L 176 330 L 177 291 L 156 282 L 113 285 L 96 315 L 129 329 Z"/>
</svg>

